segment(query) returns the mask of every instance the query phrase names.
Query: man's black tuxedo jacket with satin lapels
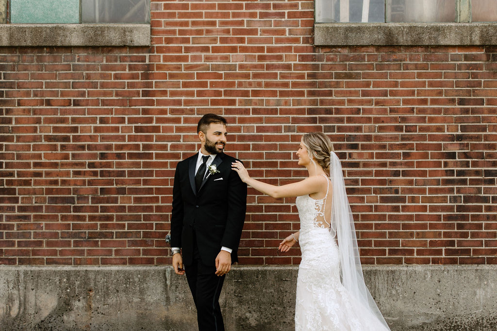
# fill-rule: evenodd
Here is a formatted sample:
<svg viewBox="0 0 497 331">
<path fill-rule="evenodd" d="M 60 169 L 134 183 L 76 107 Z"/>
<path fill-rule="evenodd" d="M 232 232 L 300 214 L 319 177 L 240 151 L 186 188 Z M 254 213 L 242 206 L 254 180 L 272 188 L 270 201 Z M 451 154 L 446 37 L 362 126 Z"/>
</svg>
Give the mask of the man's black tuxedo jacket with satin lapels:
<svg viewBox="0 0 497 331">
<path fill-rule="evenodd" d="M 247 184 L 231 169 L 236 159 L 224 153 L 216 155 L 211 165 L 219 173 L 204 178 L 195 188 L 198 154 L 176 166 L 172 189 L 171 247 L 180 247 L 184 265 L 192 263 L 193 232 L 200 258 L 205 265 L 215 265 L 221 247 L 231 248 L 231 261 L 238 261 L 238 245 L 247 210 Z"/>
</svg>

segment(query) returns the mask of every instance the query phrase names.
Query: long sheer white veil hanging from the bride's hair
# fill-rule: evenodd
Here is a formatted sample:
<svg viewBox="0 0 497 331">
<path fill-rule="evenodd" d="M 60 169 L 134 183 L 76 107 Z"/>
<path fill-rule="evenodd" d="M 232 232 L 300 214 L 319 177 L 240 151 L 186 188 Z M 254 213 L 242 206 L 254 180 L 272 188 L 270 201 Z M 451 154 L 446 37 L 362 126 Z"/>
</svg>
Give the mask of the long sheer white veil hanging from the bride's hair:
<svg viewBox="0 0 497 331">
<path fill-rule="evenodd" d="M 379 325 L 384 326 L 385 330 L 390 330 L 364 283 L 359 250 L 357 248 L 354 219 L 347 199 L 347 193 L 345 192 L 345 181 L 343 180 L 341 163 L 334 152 L 330 152 L 330 179 L 333 188 L 331 224 L 336 227 L 342 284 L 355 301 L 362 306 L 361 310 L 364 310 L 363 313 L 367 314 L 367 312 L 370 312 L 371 318 L 376 318 Z M 373 325 L 375 324 L 374 321 L 371 322 Z"/>
</svg>

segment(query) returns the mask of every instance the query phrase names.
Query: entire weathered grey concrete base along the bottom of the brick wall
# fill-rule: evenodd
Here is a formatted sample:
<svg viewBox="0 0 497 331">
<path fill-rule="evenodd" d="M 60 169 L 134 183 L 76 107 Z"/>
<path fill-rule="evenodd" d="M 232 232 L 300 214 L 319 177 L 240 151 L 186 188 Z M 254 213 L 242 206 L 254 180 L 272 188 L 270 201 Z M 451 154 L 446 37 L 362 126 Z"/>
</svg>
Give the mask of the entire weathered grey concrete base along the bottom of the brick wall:
<svg viewBox="0 0 497 331">
<path fill-rule="evenodd" d="M 366 266 L 393 331 L 497 330 L 497 266 Z M 293 329 L 295 266 L 235 266 L 227 331 Z M 168 266 L 0 266 L 0 330 L 195 330 L 186 280 Z"/>
</svg>

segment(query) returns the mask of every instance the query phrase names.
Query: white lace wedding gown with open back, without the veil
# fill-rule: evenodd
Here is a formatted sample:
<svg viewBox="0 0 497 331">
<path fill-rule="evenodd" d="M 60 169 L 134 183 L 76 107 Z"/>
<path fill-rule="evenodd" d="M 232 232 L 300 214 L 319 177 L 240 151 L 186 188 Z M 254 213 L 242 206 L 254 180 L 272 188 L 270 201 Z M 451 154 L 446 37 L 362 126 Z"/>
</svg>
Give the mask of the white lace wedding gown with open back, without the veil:
<svg viewBox="0 0 497 331">
<path fill-rule="evenodd" d="M 327 196 L 330 193 L 327 194 Z M 339 248 L 323 218 L 326 198 L 297 197 L 302 261 L 297 278 L 296 331 L 384 331 L 340 282 Z M 325 221 L 325 222 L 323 222 Z"/>
</svg>

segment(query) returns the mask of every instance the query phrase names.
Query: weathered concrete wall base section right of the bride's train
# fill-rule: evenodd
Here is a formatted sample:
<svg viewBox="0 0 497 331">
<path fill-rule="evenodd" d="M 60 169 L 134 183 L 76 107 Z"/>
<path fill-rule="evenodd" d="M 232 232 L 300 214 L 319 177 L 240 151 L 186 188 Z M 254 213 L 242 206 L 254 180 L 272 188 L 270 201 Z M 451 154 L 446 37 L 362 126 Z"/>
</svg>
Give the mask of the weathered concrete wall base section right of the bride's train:
<svg viewBox="0 0 497 331">
<path fill-rule="evenodd" d="M 392 330 L 497 330 L 497 266 L 368 267 L 364 273 Z"/>
</svg>

